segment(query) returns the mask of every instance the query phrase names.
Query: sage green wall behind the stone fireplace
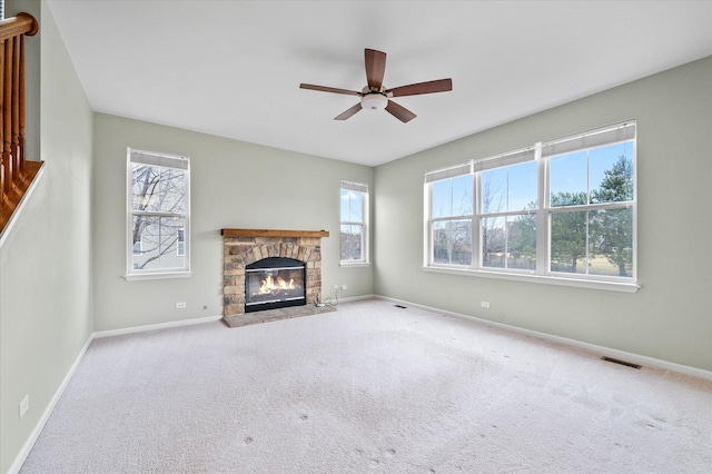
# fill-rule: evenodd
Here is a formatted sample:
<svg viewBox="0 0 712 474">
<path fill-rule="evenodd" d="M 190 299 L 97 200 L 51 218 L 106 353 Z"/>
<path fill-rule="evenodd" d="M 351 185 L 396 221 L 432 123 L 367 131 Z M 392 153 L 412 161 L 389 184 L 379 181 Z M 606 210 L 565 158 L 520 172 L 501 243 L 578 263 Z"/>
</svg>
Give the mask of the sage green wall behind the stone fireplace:
<svg viewBox="0 0 712 474">
<path fill-rule="evenodd" d="M 190 157 L 190 278 L 123 279 L 127 147 Z M 93 176 L 95 330 L 221 315 L 221 228 L 328 230 L 324 296 L 373 293 L 372 267 L 338 266 L 340 180 L 373 186 L 370 167 L 96 113 Z"/>
</svg>

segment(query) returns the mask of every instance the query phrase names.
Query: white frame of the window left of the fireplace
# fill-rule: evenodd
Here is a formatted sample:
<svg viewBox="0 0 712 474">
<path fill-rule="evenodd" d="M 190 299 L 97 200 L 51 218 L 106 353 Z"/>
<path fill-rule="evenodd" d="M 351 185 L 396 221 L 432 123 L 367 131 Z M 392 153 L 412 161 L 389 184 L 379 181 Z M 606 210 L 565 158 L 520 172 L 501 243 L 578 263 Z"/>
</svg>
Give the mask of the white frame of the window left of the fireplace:
<svg viewBox="0 0 712 474">
<path fill-rule="evenodd" d="M 127 280 L 147 280 L 147 279 L 166 279 L 166 278 L 187 278 L 192 275 L 190 271 L 190 159 L 184 156 L 169 155 L 156 151 L 145 151 L 135 148 L 127 148 L 127 220 L 126 220 L 126 274 L 123 278 Z M 132 171 L 134 164 L 152 165 L 165 168 L 181 169 L 185 172 L 185 213 L 166 214 L 166 213 L 146 213 L 135 211 L 132 208 Z M 134 268 L 134 243 L 132 227 L 135 215 L 150 215 L 157 217 L 180 217 L 184 219 L 184 265 L 181 267 L 171 268 Z M 178 251 L 178 248 L 176 248 Z"/>
</svg>

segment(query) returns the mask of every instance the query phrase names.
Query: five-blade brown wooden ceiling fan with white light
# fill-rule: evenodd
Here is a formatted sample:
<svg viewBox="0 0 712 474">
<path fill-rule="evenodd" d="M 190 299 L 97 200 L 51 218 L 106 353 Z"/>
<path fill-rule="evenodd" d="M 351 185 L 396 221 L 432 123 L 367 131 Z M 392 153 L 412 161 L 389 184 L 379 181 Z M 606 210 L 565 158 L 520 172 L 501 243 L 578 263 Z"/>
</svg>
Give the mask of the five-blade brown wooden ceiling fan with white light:
<svg viewBox="0 0 712 474">
<path fill-rule="evenodd" d="M 355 90 L 337 89 L 334 87 L 315 86 L 312 83 L 300 83 L 299 88 L 360 97 L 360 102 L 334 117 L 334 120 L 346 120 L 347 118 L 353 117 L 360 109 L 386 109 L 388 113 L 404 124 L 413 120 L 416 115 L 405 107 L 397 105 L 390 100 L 390 98 L 453 90 L 453 80 L 449 78 L 385 89 L 383 87 L 383 77 L 386 72 L 386 53 L 383 51 L 376 51 L 375 49 L 366 49 L 364 56 L 366 62 L 367 86 L 364 87 L 360 92 Z"/>
</svg>

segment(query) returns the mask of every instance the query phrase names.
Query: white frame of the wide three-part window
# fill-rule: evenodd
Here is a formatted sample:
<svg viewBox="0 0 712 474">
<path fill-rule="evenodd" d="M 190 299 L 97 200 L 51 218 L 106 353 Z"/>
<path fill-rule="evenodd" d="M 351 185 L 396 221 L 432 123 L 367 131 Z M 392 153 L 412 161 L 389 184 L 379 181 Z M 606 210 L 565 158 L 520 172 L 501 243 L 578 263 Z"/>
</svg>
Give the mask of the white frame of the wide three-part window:
<svg viewBox="0 0 712 474">
<path fill-rule="evenodd" d="M 428 171 L 425 174 L 424 186 L 424 256 L 423 269 L 425 271 L 446 273 L 456 275 L 469 275 L 488 277 L 496 279 L 508 279 L 518 282 L 533 282 L 542 284 L 564 285 L 594 289 L 607 289 L 625 293 L 635 293 L 640 288 L 637 284 L 637 164 L 636 164 L 636 124 L 635 120 L 626 120 L 621 124 L 590 130 L 583 134 L 560 138 L 556 140 L 540 141 L 531 147 L 520 150 L 487 157 L 478 160 L 471 160 L 455 167 Z M 550 197 L 550 159 L 556 156 L 571 152 L 573 150 L 593 149 L 600 146 L 607 146 L 622 141 L 633 142 L 633 199 L 630 201 L 612 201 L 602 204 L 587 204 L 574 207 L 551 207 Z M 483 214 L 481 209 L 481 171 L 516 165 L 535 160 L 537 162 L 537 191 L 538 207 L 532 213 L 536 215 L 536 269 L 508 269 L 498 267 L 484 267 L 482 265 L 482 236 L 481 219 L 486 217 L 497 217 L 506 215 L 521 215 L 522 211 L 504 211 L 494 214 Z M 467 170 L 467 166 L 471 167 Z M 451 179 L 464 174 L 472 174 L 474 179 L 473 206 L 474 215 L 472 221 L 472 264 L 468 266 L 436 264 L 433 249 L 433 223 L 437 218 L 432 218 L 432 189 L 433 182 Z M 601 210 L 632 208 L 633 216 L 633 248 L 632 248 L 632 276 L 603 276 L 589 274 L 573 274 L 551 270 L 551 216 L 557 213 L 572 210 Z"/>
</svg>

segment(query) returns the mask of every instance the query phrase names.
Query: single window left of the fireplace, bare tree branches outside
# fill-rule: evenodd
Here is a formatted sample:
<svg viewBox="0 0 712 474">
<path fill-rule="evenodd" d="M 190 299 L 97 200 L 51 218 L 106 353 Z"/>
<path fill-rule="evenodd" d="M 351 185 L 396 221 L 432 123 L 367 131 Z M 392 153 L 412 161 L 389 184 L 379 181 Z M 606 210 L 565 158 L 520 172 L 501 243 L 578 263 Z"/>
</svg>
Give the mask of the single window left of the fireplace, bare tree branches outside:
<svg viewBox="0 0 712 474">
<path fill-rule="evenodd" d="M 128 150 L 127 279 L 189 275 L 188 158 Z"/>
</svg>

